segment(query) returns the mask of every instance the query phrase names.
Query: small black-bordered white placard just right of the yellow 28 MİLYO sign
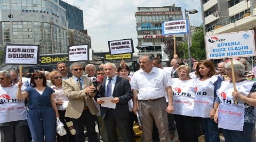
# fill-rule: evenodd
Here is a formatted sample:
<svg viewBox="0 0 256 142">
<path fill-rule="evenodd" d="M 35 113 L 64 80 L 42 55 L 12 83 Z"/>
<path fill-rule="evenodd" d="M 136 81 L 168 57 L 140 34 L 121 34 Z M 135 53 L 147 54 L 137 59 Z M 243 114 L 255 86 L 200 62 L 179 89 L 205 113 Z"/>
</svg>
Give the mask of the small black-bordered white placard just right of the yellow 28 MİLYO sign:
<svg viewBox="0 0 256 142">
<path fill-rule="evenodd" d="M 88 45 L 70 46 L 68 52 L 69 61 L 87 61 L 89 60 Z"/>
</svg>

